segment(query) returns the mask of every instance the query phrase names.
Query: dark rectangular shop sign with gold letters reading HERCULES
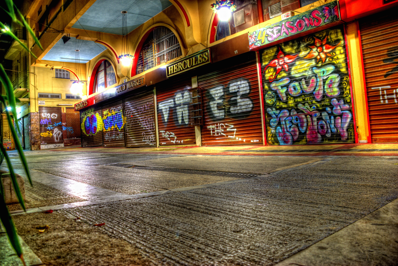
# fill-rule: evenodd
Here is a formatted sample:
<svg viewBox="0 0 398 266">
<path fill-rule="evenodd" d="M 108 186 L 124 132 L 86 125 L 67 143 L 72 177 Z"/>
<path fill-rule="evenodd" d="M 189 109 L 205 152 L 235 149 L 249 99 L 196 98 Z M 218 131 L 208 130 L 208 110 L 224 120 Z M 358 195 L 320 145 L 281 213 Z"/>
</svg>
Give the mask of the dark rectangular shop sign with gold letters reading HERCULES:
<svg viewBox="0 0 398 266">
<path fill-rule="evenodd" d="M 211 56 L 210 49 L 208 48 L 168 65 L 166 67 L 167 77 L 174 76 L 209 63 L 211 63 Z"/>
</svg>

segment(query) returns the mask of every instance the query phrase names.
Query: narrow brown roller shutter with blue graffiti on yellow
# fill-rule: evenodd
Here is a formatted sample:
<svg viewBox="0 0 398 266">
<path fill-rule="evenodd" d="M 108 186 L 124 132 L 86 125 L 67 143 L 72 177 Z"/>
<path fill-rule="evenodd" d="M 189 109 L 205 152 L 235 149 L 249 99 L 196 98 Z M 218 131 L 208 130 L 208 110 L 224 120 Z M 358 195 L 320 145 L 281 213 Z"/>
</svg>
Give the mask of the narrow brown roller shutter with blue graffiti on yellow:
<svg viewBox="0 0 398 266">
<path fill-rule="evenodd" d="M 102 106 L 102 131 L 104 147 L 125 146 L 125 118 L 122 100 Z"/>
</svg>

